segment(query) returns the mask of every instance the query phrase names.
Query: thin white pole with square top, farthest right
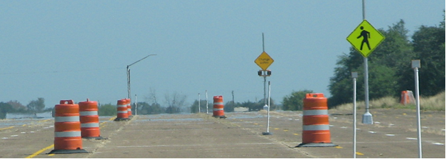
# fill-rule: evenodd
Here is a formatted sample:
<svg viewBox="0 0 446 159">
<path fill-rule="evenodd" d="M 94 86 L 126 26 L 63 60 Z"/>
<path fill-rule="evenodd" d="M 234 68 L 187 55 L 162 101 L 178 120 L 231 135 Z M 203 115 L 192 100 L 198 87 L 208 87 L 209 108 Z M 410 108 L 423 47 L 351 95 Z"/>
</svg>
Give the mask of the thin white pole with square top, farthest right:
<svg viewBox="0 0 446 159">
<path fill-rule="evenodd" d="M 420 67 L 420 60 L 412 60 L 413 71 L 415 72 L 415 99 L 417 102 L 417 130 L 418 130 L 418 158 L 423 158 L 421 148 L 421 121 L 420 121 L 420 85 L 418 84 L 418 67 Z"/>
</svg>

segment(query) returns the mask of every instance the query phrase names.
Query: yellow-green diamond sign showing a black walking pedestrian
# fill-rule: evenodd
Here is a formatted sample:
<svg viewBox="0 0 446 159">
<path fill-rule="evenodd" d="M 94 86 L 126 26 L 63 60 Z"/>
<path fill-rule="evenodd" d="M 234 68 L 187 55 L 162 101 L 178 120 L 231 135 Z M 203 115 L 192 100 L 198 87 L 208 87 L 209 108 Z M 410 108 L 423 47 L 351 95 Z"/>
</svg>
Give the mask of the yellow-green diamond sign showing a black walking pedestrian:
<svg viewBox="0 0 446 159">
<path fill-rule="evenodd" d="M 353 32 L 347 36 L 347 40 L 353 45 L 356 50 L 368 57 L 373 50 L 385 39 L 385 37 L 368 21 L 363 20 Z"/>
</svg>

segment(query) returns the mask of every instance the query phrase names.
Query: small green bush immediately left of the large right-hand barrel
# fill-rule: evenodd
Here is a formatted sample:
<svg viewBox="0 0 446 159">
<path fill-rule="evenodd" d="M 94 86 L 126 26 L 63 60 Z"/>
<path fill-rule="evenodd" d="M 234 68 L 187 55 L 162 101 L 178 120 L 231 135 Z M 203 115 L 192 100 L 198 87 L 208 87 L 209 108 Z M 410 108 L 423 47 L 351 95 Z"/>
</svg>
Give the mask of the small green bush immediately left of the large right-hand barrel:
<svg viewBox="0 0 446 159">
<path fill-rule="evenodd" d="M 301 111 L 304 107 L 304 98 L 313 91 L 304 89 L 302 91 L 293 91 L 290 95 L 283 97 L 282 104 L 285 111 Z"/>
</svg>

